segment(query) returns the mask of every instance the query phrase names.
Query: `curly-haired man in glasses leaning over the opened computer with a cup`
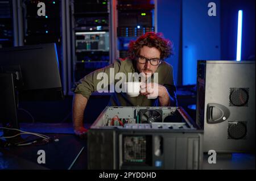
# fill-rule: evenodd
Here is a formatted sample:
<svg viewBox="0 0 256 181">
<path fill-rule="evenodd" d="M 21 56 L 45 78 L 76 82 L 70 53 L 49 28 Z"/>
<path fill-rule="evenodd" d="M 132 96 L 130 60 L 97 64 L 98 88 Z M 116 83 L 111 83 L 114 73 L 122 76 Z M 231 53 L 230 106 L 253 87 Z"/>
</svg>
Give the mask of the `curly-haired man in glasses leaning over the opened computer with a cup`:
<svg viewBox="0 0 256 181">
<path fill-rule="evenodd" d="M 110 74 L 114 68 L 117 73 L 143 73 L 146 77 L 158 73 L 158 95 L 150 99 L 154 90 L 148 91 L 147 85 L 141 86 L 141 94 L 131 97 L 125 92 L 114 92 L 110 98 L 109 106 L 177 106 L 176 87 L 174 85 L 172 66 L 164 61 L 172 52 L 172 43 L 163 39 L 158 33 L 147 32 L 136 41 L 129 44 L 129 57 L 117 60 L 105 68 L 93 71 L 75 84 L 73 98 L 73 128 L 75 134 L 82 136 L 86 133 L 83 127 L 84 110 L 92 92 L 97 90 L 98 73 Z M 148 86 L 149 87 L 149 86 Z"/>
</svg>

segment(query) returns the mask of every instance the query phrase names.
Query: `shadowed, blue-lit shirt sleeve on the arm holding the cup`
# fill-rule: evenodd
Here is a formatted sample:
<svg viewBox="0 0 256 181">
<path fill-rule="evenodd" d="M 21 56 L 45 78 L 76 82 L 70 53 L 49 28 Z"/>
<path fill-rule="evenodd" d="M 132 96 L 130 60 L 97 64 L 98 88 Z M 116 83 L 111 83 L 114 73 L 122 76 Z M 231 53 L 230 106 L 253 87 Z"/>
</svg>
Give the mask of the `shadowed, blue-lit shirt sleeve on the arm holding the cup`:
<svg viewBox="0 0 256 181">
<path fill-rule="evenodd" d="M 172 66 L 169 67 L 168 76 L 166 77 L 166 80 L 164 81 L 163 86 L 166 87 L 168 93 L 171 96 L 171 106 L 176 107 L 177 106 L 176 86 L 174 83 L 174 72 L 173 72 Z"/>
</svg>

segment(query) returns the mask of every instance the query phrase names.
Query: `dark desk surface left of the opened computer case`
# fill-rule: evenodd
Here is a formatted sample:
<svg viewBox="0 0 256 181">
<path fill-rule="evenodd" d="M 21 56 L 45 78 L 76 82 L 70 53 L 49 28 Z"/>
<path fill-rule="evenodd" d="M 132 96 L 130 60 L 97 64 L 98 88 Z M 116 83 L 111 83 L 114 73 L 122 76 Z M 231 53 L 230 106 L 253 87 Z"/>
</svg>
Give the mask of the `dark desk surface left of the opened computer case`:
<svg viewBox="0 0 256 181">
<path fill-rule="evenodd" d="M 60 169 L 68 170 L 73 161 L 81 154 L 71 169 L 87 169 L 86 141 L 73 134 L 47 134 L 59 141 L 49 142 L 45 145 L 17 146 L 0 148 L 1 169 Z M 46 153 L 46 163 L 38 163 L 38 151 Z"/>
</svg>

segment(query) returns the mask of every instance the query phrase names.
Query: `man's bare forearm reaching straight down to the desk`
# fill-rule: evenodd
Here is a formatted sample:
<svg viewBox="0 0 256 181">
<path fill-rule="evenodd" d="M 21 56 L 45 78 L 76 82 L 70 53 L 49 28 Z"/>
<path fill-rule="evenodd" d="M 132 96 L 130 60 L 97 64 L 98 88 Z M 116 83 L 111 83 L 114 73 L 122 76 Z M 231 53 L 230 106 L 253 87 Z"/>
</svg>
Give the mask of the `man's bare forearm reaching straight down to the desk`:
<svg viewBox="0 0 256 181">
<path fill-rule="evenodd" d="M 73 127 L 82 127 L 84 120 L 84 110 L 88 99 L 81 94 L 75 94 L 73 97 Z"/>
</svg>

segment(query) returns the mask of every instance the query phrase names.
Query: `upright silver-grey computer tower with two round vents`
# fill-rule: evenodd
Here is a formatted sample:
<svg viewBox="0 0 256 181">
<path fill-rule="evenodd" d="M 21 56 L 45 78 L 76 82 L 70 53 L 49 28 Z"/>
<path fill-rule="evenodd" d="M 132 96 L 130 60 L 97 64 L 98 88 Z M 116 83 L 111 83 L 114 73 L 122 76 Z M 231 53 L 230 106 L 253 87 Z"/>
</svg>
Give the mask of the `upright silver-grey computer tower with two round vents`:
<svg viewBox="0 0 256 181">
<path fill-rule="evenodd" d="M 255 61 L 198 61 L 196 124 L 203 150 L 255 152 Z"/>
</svg>

